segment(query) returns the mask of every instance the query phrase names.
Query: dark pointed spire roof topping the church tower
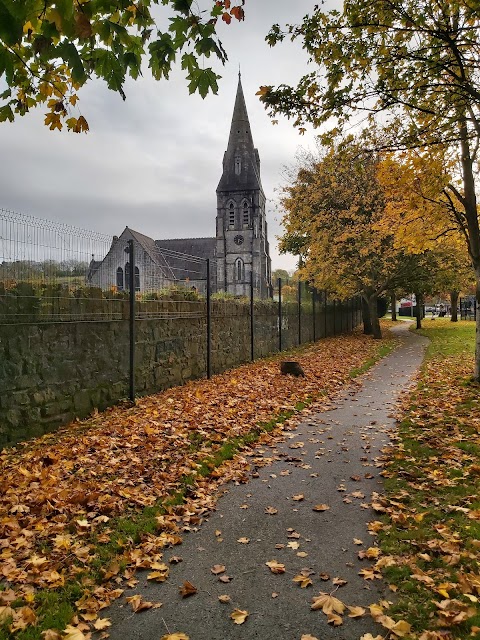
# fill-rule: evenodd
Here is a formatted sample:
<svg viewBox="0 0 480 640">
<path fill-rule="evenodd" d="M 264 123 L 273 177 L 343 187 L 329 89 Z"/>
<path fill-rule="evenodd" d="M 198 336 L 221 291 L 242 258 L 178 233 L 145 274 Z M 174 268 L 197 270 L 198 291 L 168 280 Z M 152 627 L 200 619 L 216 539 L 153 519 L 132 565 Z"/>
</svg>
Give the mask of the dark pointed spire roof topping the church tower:
<svg viewBox="0 0 480 640">
<path fill-rule="evenodd" d="M 227 150 L 223 157 L 223 174 L 218 191 L 262 189 L 260 158 L 253 144 L 242 80 L 238 74 L 237 95 Z"/>
</svg>

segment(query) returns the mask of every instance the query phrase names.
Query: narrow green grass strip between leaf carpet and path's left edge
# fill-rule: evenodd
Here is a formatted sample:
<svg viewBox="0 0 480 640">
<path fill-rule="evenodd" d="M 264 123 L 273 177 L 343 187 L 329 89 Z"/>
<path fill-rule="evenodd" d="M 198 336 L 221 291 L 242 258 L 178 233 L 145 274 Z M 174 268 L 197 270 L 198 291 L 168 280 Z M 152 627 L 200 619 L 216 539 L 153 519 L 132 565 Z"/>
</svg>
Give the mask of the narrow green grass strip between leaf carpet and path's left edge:
<svg viewBox="0 0 480 640">
<path fill-rule="evenodd" d="M 302 345 L 299 349 L 290 350 L 290 353 L 298 355 L 309 347 L 311 345 Z M 367 371 L 380 358 L 390 353 L 393 347 L 393 341 L 379 342 L 377 354 L 367 360 L 361 367 L 352 370 L 349 374 L 350 377 L 354 378 Z M 319 398 L 323 393 L 322 391 L 319 392 Z M 226 440 L 214 453 L 200 459 L 196 474 L 191 473 L 181 477 L 178 482 L 179 489 L 163 501 L 159 501 L 153 506 L 145 507 L 141 511 L 132 511 L 121 517 L 110 519 L 108 522 L 108 529 L 111 530 L 109 542 L 100 544 L 96 538 L 85 541 L 95 547 L 95 559 L 92 564 L 89 567 L 85 567 L 84 571 L 78 574 L 75 582 L 69 582 L 60 589 L 37 591 L 35 593 L 35 611 L 38 616 L 38 625 L 18 631 L 15 633 L 15 640 L 42 640 L 42 631 L 46 629 L 64 629 L 75 613 L 75 602 L 82 596 L 83 588 L 80 586 L 82 581 L 93 581 L 101 584 L 105 570 L 114 561 L 121 559 L 126 548 L 131 547 L 132 544 L 140 543 L 142 536 L 147 533 L 155 534 L 158 530 L 157 516 L 165 514 L 171 506 L 184 503 L 189 492 L 195 488 L 196 477 L 209 476 L 212 471 L 220 467 L 225 461 L 232 460 L 242 449 L 257 442 L 262 434 L 273 431 L 275 427 L 284 423 L 296 413 L 301 412 L 314 400 L 314 398 L 304 398 L 298 401 L 293 409 L 284 410 L 272 416 L 269 421 L 258 424 L 245 435 Z M 190 440 L 192 453 L 197 452 L 208 444 L 207 440 L 195 433 L 191 434 Z M 121 569 L 124 568 L 121 561 L 120 567 Z M 24 605 L 25 602 L 23 601 L 15 603 L 16 607 Z M 12 640 L 8 625 L 9 622 L 7 621 L 6 624 L 0 626 L 0 640 Z"/>
</svg>

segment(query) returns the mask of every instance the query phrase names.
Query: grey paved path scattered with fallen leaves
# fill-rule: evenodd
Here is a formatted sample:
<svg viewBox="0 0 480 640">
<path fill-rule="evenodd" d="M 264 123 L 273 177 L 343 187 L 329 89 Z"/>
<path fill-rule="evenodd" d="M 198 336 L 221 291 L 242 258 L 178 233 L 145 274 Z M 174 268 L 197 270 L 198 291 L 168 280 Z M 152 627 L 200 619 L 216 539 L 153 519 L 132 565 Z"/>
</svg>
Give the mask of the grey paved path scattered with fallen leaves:
<svg viewBox="0 0 480 640">
<path fill-rule="evenodd" d="M 329 411 L 312 411 L 295 431 L 286 433 L 285 442 L 263 447 L 273 462 L 247 484 L 229 485 L 217 511 L 198 532 L 165 552 L 166 561 L 173 555 L 183 558 L 171 566 L 165 583 L 147 584 L 146 573 L 139 575 L 139 584 L 126 595 L 141 593 L 146 600 L 162 602 L 161 608 L 132 614 L 121 599 L 102 612 L 113 623 L 111 640 L 160 640 L 167 629 L 190 640 L 300 640 L 303 634 L 319 640 L 358 640 L 368 632 L 384 635 L 368 616 L 353 620 L 345 614 L 343 624 L 332 627 L 310 604 L 320 591 L 336 589 L 334 578 L 347 581 L 335 596 L 348 605 L 367 606 L 392 596 L 380 580 L 358 575 L 371 565 L 359 560 L 358 552 L 375 544 L 366 527 L 375 519 L 368 506 L 371 494 L 382 490 L 375 460 L 395 428 L 391 413 L 398 394 L 418 369 L 426 344 L 425 338 L 408 332 L 406 323 L 395 331 L 401 345 L 364 376 L 360 388 L 345 390 Z M 298 494 L 304 499 L 294 500 Z M 313 511 L 318 504 L 330 509 Z M 267 507 L 278 512 L 269 515 Z M 292 530 L 300 537 L 289 537 Z M 239 538 L 250 542 L 241 544 Z M 355 544 L 354 538 L 363 544 Z M 273 574 L 265 566 L 271 560 L 284 564 L 286 573 Z M 215 564 L 226 566 L 231 582 L 222 583 L 211 573 Z M 302 569 L 312 571 L 313 586 L 302 589 L 292 582 Z M 330 579 L 322 580 L 320 574 Z M 178 588 L 186 580 L 198 593 L 182 599 Z M 222 594 L 231 602 L 219 602 Z M 244 624 L 230 619 L 234 608 L 248 610 Z"/>
</svg>

